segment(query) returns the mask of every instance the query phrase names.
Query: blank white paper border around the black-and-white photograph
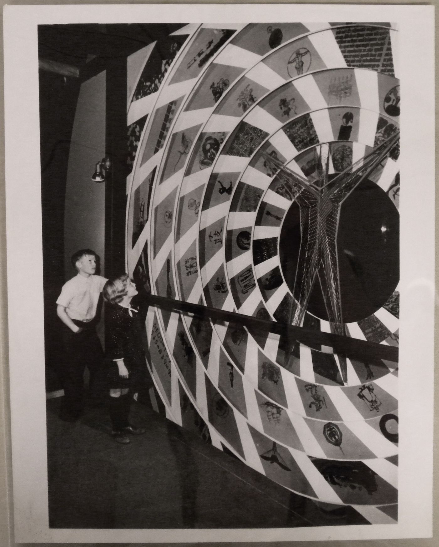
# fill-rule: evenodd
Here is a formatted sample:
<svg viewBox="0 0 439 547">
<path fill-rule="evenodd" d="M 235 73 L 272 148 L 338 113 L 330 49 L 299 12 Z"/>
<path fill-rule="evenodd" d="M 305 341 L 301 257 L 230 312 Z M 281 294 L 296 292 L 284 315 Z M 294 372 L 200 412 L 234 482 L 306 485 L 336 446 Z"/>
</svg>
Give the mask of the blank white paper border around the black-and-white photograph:
<svg viewBox="0 0 439 547">
<path fill-rule="evenodd" d="M 274 16 L 274 10 L 276 15 Z M 391 21 L 400 30 L 399 522 L 276 529 L 49 529 L 37 26 Z M 421 53 L 422 52 L 422 53 Z M 421 5 L 21 5 L 4 9 L 9 375 L 15 541 L 241 542 L 430 537 L 434 391 L 434 8 Z"/>
</svg>

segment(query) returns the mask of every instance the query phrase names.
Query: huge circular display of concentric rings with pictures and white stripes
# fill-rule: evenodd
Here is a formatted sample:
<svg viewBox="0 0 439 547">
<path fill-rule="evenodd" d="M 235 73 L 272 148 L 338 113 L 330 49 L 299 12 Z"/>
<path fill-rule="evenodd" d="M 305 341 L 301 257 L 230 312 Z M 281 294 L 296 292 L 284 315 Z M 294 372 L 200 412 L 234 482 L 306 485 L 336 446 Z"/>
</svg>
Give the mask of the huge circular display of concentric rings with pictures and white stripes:
<svg viewBox="0 0 439 547">
<path fill-rule="evenodd" d="M 154 404 L 372 524 L 398 520 L 397 38 L 390 24 L 188 24 L 147 51 L 127 122 L 138 286 L 374 352 L 151 306 Z"/>
</svg>

